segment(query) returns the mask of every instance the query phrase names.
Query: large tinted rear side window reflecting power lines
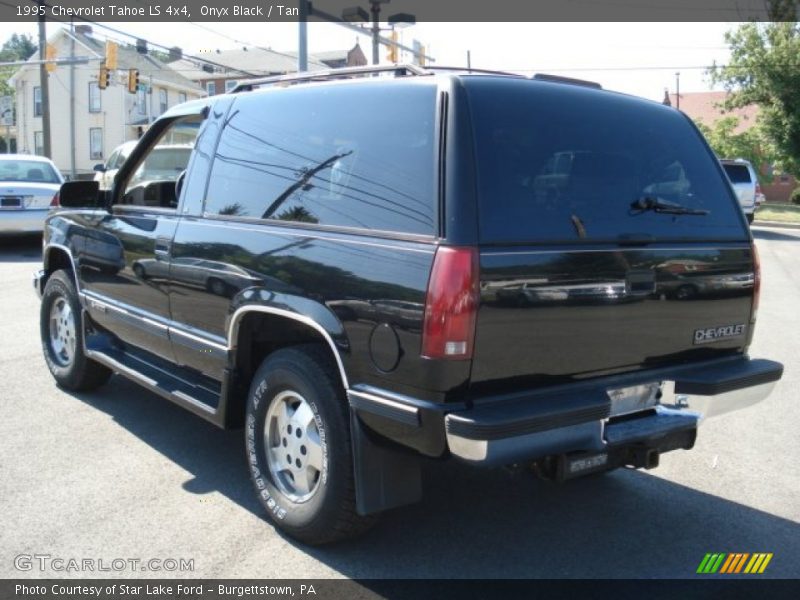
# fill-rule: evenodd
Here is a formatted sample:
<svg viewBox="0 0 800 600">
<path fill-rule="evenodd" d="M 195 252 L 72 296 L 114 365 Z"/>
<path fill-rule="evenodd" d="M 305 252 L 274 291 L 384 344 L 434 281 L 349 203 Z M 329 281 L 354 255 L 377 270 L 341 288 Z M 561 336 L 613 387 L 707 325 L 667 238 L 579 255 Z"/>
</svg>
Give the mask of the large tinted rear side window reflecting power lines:
<svg viewBox="0 0 800 600">
<path fill-rule="evenodd" d="M 433 234 L 435 88 L 397 82 L 243 94 L 210 214 Z"/>
</svg>

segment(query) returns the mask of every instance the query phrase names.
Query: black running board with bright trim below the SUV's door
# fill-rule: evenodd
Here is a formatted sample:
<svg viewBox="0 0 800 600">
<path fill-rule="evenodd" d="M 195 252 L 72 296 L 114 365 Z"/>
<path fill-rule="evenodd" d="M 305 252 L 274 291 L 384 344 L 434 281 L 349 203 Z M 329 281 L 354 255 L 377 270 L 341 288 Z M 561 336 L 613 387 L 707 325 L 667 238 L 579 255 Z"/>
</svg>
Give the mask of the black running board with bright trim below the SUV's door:
<svg viewBox="0 0 800 600">
<path fill-rule="evenodd" d="M 91 348 L 87 343 L 86 355 L 92 360 L 133 380 L 135 383 L 174 402 L 219 427 L 225 426 L 225 411 L 219 410 L 220 392 L 196 385 L 159 367 L 155 361 L 134 355 L 120 348 L 104 345 Z M 173 370 L 175 367 L 173 366 Z"/>
</svg>

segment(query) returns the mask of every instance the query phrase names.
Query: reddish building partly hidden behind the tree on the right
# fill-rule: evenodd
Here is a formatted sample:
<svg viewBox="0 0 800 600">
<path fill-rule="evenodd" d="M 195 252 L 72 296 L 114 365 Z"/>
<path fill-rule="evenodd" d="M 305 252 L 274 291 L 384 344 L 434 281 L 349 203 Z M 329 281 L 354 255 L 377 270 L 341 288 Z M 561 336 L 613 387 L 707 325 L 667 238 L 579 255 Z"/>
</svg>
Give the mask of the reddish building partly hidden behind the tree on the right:
<svg viewBox="0 0 800 600">
<path fill-rule="evenodd" d="M 742 108 L 724 111 L 722 108 L 727 92 L 696 92 L 680 95 L 669 94 L 670 104 L 686 113 L 696 123 L 712 127 L 722 117 L 737 117 L 739 124 L 734 130 L 741 133 L 756 123 L 759 107 L 751 104 Z M 720 158 L 738 158 L 736 156 L 721 156 Z M 766 173 L 771 165 L 762 165 L 761 173 Z M 788 202 L 789 196 L 798 186 L 797 180 L 791 175 L 776 175 L 770 183 L 762 183 L 761 191 L 770 202 Z"/>
</svg>

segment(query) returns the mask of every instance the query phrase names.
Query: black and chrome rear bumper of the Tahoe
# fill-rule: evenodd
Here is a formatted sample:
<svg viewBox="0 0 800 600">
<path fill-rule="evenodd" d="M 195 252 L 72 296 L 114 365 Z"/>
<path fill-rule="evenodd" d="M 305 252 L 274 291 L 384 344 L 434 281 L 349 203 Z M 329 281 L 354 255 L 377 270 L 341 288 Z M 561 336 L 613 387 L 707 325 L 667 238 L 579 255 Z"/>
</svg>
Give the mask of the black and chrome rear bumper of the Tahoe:
<svg viewBox="0 0 800 600">
<path fill-rule="evenodd" d="M 703 418 L 760 402 L 782 374 L 780 363 L 736 357 L 457 406 L 382 395 L 359 386 L 349 394 L 357 414 L 385 437 L 406 445 L 442 437 L 453 456 L 502 465 L 551 455 L 612 452 L 637 444 L 659 452 L 688 448 Z M 608 390 L 652 383 L 661 384 L 655 406 L 625 416 L 613 414 L 616 409 Z"/>
</svg>

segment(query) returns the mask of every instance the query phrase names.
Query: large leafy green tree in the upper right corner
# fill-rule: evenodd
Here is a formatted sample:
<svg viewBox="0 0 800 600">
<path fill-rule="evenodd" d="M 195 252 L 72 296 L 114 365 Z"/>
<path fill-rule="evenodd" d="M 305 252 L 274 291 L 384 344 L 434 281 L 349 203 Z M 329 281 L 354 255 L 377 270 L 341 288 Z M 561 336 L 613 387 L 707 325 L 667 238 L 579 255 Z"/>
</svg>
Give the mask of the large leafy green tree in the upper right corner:
<svg viewBox="0 0 800 600">
<path fill-rule="evenodd" d="M 800 25 L 745 23 L 725 41 L 729 63 L 710 69 L 711 80 L 729 92 L 725 108 L 758 105 L 765 152 L 800 177 Z"/>
</svg>

